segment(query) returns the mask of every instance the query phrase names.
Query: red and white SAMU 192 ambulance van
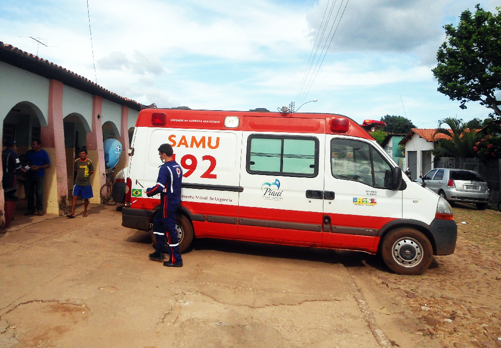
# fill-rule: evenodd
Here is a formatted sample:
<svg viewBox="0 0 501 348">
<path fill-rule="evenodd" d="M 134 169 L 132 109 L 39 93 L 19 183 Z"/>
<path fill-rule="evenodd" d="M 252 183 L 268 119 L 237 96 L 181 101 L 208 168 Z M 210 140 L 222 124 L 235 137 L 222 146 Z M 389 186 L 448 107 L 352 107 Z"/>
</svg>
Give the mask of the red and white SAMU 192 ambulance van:
<svg viewBox="0 0 501 348">
<path fill-rule="evenodd" d="M 183 168 L 176 228 L 194 238 L 358 250 L 398 274 L 454 252 L 447 201 L 413 183 L 352 119 L 336 114 L 144 109 L 124 172 L 122 225 L 150 231 L 147 197 L 170 144 Z"/>
</svg>

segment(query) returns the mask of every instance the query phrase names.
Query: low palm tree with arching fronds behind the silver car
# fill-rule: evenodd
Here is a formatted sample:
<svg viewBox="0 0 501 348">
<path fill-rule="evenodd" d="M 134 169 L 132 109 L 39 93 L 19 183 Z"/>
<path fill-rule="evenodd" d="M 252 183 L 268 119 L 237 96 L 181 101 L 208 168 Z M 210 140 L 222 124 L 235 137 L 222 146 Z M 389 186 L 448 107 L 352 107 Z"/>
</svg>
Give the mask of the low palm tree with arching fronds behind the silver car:
<svg viewBox="0 0 501 348">
<path fill-rule="evenodd" d="M 443 124 L 450 127 L 441 128 Z M 448 117 L 440 121 L 436 134 L 445 134 L 450 139 L 439 139 L 433 150 L 435 157 L 476 157 L 473 147 L 480 140 L 477 132 L 467 130 L 462 120 Z"/>
</svg>

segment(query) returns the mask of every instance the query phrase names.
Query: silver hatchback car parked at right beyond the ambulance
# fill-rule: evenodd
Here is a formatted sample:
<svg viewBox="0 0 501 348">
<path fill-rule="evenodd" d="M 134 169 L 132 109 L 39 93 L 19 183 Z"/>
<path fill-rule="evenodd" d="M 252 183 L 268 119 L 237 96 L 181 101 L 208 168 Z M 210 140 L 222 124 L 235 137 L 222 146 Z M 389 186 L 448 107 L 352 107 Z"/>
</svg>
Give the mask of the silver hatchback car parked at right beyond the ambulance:
<svg viewBox="0 0 501 348">
<path fill-rule="evenodd" d="M 480 174 L 466 169 L 435 168 L 422 178 L 426 187 L 449 202 L 473 203 L 487 208 L 490 189 Z"/>
</svg>

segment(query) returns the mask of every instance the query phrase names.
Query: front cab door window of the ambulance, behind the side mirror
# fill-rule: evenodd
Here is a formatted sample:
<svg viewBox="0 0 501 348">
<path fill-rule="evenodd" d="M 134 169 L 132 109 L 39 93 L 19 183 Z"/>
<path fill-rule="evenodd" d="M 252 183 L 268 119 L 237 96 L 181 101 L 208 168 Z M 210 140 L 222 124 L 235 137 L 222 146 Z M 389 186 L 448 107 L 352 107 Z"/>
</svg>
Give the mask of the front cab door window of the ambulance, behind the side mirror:
<svg viewBox="0 0 501 348">
<path fill-rule="evenodd" d="M 350 139 L 331 140 L 331 173 L 337 179 L 384 188 L 391 166 L 370 144 Z"/>
</svg>

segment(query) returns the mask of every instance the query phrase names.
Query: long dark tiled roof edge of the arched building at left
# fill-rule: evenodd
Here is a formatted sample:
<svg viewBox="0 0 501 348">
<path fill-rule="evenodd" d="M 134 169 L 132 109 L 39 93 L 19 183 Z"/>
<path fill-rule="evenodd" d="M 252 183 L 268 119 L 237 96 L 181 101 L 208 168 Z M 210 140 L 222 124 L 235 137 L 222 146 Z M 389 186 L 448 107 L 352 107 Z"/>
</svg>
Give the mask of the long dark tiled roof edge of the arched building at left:
<svg viewBox="0 0 501 348">
<path fill-rule="evenodd" d="M 17 68 L 43 76 L 47 79 L 61 81 L 66 86 L 76 88 L 92 95 L 102 97 L 134 110 L 141 110 L 144 106 L 132 99 L 124 98 L 108 91 L 91 80 L 75 74 L 57 64 L 49 62 L 31 53 L 22 51 L 12 45 L 0 41 L 0 62 L 5 62 Z"/>
</svg>

